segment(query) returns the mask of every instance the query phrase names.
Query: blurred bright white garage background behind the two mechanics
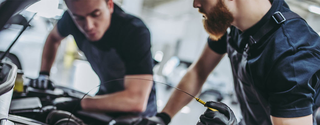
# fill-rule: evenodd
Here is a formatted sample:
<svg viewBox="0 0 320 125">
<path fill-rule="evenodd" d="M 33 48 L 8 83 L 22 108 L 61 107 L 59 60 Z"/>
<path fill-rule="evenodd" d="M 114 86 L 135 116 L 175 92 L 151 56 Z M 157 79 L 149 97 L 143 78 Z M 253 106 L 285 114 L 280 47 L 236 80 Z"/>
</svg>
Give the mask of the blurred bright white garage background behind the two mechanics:
<svg viewBox="0 0 320 125">
<path fill-rule="evenodd" d="M 320 35 L 320 1 L 287 0 L 293 12 L 303 17 Z M 125 12 L 142 19 L 151 33 L 152 54 L 159 62 L 154 67 L 154 80 L 176 86 L 186 73 L 188 66 L 200 55 L 208 34 L 202 25 L 202 15 L 193 8 L 192 0 L 115 0 Z M 66 10 L 63 0 L 41 0 L 21 12 L 31 27 L 21 35 L 11 53 L 21 62 L 24 74 L 37 78 L 41 55 L 48 33 Z M 16 17 L 16 18 L 23 18 Z M 16 23 L 6 25 L 0 32 L 0 51 L 5 51 L 19 34 L 22 26 Z M 103 65 L 103 64 L 101 64 Z M 51 69 L 51 80 L 55 84 L 87 92 L 100 84 L 84 54 L 79 51 L 72 36 L 60 44 L 55 63 Z M 156 84 L 157 106 L 161 111 L 169 98 L 172 88 Z M 90 92 L 94 95 L 97 88 Z M 230 62 L 225 56 L 210 74 L 201 91 L 204 101 L 222 101 L 241 118 L 240 108 L 233 94 L 233 77 Z M 195 125 L 205 107 L 192 101 L 178 113 L 171 125 Z"/>
</svg>

